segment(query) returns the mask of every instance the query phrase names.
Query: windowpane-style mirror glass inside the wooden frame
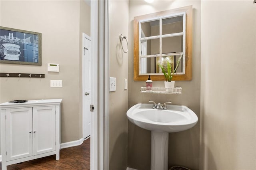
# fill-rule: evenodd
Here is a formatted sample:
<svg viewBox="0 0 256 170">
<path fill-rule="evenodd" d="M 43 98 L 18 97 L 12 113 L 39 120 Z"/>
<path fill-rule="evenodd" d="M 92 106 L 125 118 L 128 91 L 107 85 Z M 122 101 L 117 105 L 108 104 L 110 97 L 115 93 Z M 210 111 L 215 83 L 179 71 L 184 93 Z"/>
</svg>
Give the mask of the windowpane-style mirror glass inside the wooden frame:
<svg viewBox="0 0 256 170">
<path fill-rule="evenodd" d="M 167 62 L 171 64 L 172 71 L 174 70 L 178 57 L 184 54 L 185 49 L 185 43 L 183 43 L 183 38 L 186 35 L 183 23 L 184 14 L 174 14 L 139 23 L 139 75 L 162 73 L 158 64 L 167 67 Z M 175 74 L 184 74 L 182 66 L 184 62 L 181 61 L 180 65 Z"/>
</svg>

